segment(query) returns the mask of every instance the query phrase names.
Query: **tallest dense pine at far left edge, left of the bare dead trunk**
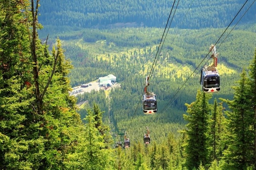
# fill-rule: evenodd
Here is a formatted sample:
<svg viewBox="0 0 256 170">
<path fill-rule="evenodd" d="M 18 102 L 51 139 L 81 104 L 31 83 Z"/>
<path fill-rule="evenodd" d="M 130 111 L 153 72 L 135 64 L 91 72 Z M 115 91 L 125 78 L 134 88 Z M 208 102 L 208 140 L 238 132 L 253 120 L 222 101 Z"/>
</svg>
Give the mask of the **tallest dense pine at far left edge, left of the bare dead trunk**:
<svg viewBox="0 0 256 170">
<path fill-rule="evenodd" d="M 28 1 L 1 1 L 0 6 L 0 169 L 37 169 L 44 158 L 40 124 L 32 121 L 32 69 L 26 15 Z"/>
</svg>

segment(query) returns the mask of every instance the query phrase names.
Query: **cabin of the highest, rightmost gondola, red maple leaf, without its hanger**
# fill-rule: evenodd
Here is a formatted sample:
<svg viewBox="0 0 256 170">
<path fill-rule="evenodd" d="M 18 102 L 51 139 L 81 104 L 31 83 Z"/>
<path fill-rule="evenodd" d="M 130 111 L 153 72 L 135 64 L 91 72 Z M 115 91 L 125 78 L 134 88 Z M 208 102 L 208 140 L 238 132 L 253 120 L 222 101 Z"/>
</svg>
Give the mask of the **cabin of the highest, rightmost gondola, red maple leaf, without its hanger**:
<svg viewBox="0 0 256 170">
<path fill-rule="evenodd" d="M 200 81 L 204 93 L 216 93 L 220 91 L 220 75 L 216 68 L 203 68 Z"/>
</svg>

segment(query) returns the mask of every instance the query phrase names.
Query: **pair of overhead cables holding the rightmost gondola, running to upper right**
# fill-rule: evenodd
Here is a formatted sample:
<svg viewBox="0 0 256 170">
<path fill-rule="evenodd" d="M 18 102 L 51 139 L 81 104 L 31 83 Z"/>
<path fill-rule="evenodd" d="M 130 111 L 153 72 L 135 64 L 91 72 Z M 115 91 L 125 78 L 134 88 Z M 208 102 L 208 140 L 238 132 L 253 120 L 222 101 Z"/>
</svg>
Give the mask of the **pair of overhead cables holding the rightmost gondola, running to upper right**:
<svg viewBox="0 0 256 170">
<path fill-rule="evenodd" d="M 247 0 L 248 1 L 248 0 Z M 247 3 L 247 1 L 244 3 L 244 5 Z M 254 4 L 254 2 L 255 2 L 256 0 L 254 0 L 253 2 L 252 2 L 252 4 Z M 235 28 L 235 26 L 239 23 L 239 21 L 244 17 L 244 15 L 245 15 L 245 13 L 251 8 L 251 6 L 252 6 L 252 4 L 249 6 L 249 8 L 244 12 L 244 14 L 240 17 L 240 19 L 236 22 L 236 24 L 234 25 L 234 27 L 230 30 L 230 32 L 231 31 L 233 31 L 233 29 Z M 241 9 L 238 11 L 238 13 L 242 10 L 242 8 L 244 7 L 244 5 L 241 7 Z M 238 15 L 238 13 L 236 14 L 236 16 Z M 235 16 L 235 18 L 236 18 L 236 16 Z M 235 18 L 233 18 L 233 20 L 231 21 L 231 23 L 234 21 L 234 19 Z M 228 27 L 231 25 L 231 23 L 228 25 Z M 221 34 L 221 36 L 220 36 L 220 38 L 223 36 L 223 34 L 227 31 L 227 29 L 228 29 L 228 27 L 225 29 L 225 31 Z M 228 35 L 230 34 L 230 32 L 228 33 Z M 224 42 L 224 40 L 228 37 L 228 35 L 222 40 L 222 42 L 220 43 L 220 45 L 218 46 L 218 48 L 221 46 L 221 44 Z M 218 43 L 218 41 L 220 40 L 220 38 L 217 40 L 217 42 L 214 44 L 214 46 Z M 218 49 L 218 48 L 216 48 L 216 50 Z M 210 53 L 210 51 L 207 53 L 207 55 L 204 57 L 204 59 L 201 61 L 201 63 L 196 67 L 196 69 L 202 64 L 202 62 L 205 60 L 205 58 L 209 55 L 209 53 Z M 210 60 L 210 58 L 205 62 L 205 64 L 208 62 Z M 194 72 L 196 71 L 196 69 L 193 71 L 193 73 L 188 77 L 188 79 L 194 74 Z M 200 71 L 200 70 L 199 70 Z M 195 76 L 199 73 L 199 71 L 195 74 Z M 195 77 L 194 76 L 194 77 Z M 194 78 L 193 77 L 193 78 Z M 188 79 L 184 82 L 184 84 L 180 87 L 180 89 L 185 85 L 185 83 L 188 81 Z M 192 80 L 191 80 L 192 81 Z M 190 81 L 190 82 L 191 82 Z M 190 83 L 189 82 L 189 83 Z M 187 86 L 185 86 L 185 88 L 184 89 L 186 89 L 186 87 Z M 180 96 L 180 94 L 183 92 L 183 90 L 180 92 L 180 94 L 174 99 L 174 97 L 179 93 L 179 91 L 180 91 L 180 89 L 175 93 L 175 95 L 172 97 L 172 99 L 165 105 L 165 107 L 164 107 L 164 109 L 163 110 L 161 110 L 160 111 L 160 113 L 162 112 L 162 111 L 165 111 L 165 110 L 167 110 L 169 107 L 170 107 L 170 105 L 178 98 L 178 96 Z M 172 101 L 173 100 L 173 101 Z M 171 103 L 171 101 L 172 101 L 172 103 Z M 171 104 L 169 104 L 169 103 L 171 103 Z M 167 107 L 168 106 L 168 107 Z M 155 120 L 156 120 L 156 118 L 160 115 L 160 113 L 155 117 L 155 119 L 152 121 L 152 122 L 154 122 Z"/>
</svg>

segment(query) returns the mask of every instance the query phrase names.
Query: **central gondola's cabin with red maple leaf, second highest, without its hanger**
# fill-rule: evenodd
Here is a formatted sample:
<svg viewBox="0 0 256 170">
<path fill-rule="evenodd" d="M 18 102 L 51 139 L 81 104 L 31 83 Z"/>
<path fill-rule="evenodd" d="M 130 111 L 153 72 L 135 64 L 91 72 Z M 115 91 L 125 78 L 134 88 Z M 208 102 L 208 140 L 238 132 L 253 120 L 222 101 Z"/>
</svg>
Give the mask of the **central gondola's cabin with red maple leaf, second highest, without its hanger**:
<svg viewBox="0 0 256 170">
<path fill-rule="evenodd" d="M 154 114 L 157 112 L 156 95 L 154 93 L 144 94 L 142 104 L 144 114 Z"/>
</svg>

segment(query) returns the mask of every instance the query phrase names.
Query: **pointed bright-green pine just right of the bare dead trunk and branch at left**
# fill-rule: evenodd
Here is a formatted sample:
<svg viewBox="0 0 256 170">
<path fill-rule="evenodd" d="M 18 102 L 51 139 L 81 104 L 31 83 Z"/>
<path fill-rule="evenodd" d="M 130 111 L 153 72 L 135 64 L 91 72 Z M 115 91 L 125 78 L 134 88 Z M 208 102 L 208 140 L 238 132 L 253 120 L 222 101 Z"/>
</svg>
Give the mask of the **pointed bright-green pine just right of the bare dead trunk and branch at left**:
<svg viewBox="0 0 256 170">
<path fill-rule="evenodd" d="M 56 69 L 52 75 L 52 81 L 49 83 L 43 100 L 44 115 L 42 116 L 43 121 L 40 124 L 42 128 L 40 134 L 47 139 L 44 152 L 46 158 L 44 159 L 43 166 L 63 169 L 66 154 L 73 152 L 73 147 L 77 144 L 76 135 L 79 131 L 82 131 L 79 127 L 82 121 L 76 112 L 75 98 L 68 94 L 71 87 L 67 76 L 72 65 L 69 60 L 65 59 L 64 50 L 59 39 L 57 39 L 57 47 L 59 49 L 59 57 L 56 61 Z M 55 53 L 56 51 L 53 47 L 52 54 Z M 48 65 L 45 63 L 41 68 L 51 70 L 51 64 L 51 62 Z M 38 81 L 39 84 L 46 84 L 51 73 L 49 71 L 48 74 L 41 75 L 40 81 Z"/>
</svg>

